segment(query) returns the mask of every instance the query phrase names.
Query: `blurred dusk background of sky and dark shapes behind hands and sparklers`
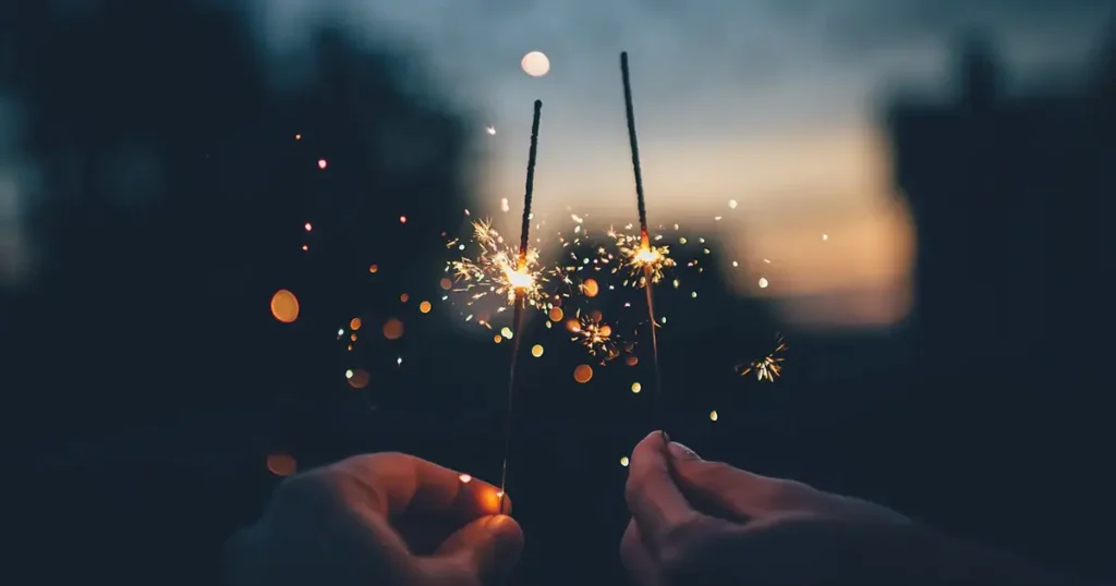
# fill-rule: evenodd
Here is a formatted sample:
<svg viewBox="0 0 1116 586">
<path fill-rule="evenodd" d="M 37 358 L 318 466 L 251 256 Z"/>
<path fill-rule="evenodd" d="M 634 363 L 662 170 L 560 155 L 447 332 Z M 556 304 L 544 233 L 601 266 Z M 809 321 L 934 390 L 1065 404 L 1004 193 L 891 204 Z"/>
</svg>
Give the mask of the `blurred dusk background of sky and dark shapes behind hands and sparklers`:
<svg viewBox="0 0 1116 586">
<path fill-rule="evenodd" d="M 517 390 L 518 582 L 623 583 L 622 459 L 660 426 L 1116 575 L 1110 0 L 0 15 L 0 388 L 31 471 L 11 477 L 25 583 L 217 583 L 221 542 L 282 475 L 352 453 L 498 479 L 510 344 L 443 290 L 445 242 L 482 218 L 518 236 L 536 98 L 543 257 L 568 256 L 578 221 L 636 221 L 620 50 L 651 223 L 690 241 L 680 285 L 656 289 L 667 398 L 646 344 L 599 364 L 561 318 L 529 323 L 525 348 L 546 352 Z M 521 69 L 531 50 L 547 75 Z M 643 302 L 593 276 L 590 306 Z M 782 376 L 740 376 L 777 336 Z"/>
</svg>

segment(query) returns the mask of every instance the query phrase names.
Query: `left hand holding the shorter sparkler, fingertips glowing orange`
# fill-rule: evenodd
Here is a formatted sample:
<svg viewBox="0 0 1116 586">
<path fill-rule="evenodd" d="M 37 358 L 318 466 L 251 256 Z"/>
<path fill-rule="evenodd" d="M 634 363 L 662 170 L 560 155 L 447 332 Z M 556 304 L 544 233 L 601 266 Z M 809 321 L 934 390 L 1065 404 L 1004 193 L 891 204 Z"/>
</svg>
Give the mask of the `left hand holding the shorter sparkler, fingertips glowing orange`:
<svg viewBox="0 0 1116 586">
<path fill-rule="evenodd" d="M 503 512 L 511 501 L 502 499 Z M 233 586 L 481 586 L 523 548 L 498 489 L 400 453 L 291 477 L 225 548 Z"/>
</svg>

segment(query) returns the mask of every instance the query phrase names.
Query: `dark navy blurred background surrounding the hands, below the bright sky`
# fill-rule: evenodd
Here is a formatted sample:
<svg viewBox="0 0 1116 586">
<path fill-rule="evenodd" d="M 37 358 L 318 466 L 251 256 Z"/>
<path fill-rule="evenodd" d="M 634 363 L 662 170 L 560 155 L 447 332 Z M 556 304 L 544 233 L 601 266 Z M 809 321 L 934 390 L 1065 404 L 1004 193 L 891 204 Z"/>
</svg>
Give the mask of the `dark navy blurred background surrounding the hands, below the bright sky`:
<svg viewBox="0 0 1116 586">
<path fill-rule="evenodd" d="M 0 292 L 10 461 L 30 471 L 8 482 L 17 565 L 33 567 L 18 583 L 217 582 L 222 540 L 279 481 L 268 454 L 305 470 L 402 450 L 499 478 L 509 345 L 448 327 L 444 304 L 416 309 L 443 295 L 441 234 L 468 227 L 463 119 L 402 83 L 398 56 L 329 29 L 306 56 L 318 75 L 275 89 L 244 15 L 204 6 L 4 8 L 0 83 L 26 106 L 18 147 L 48 194 L 28 213 L 39 270 Z M 588 358 L 560 337 L 555 359 L 525 362 L 509 480 L 520 583 L 623 579 L 618 460 L 658 426 L 708 459 L 1116 576 L 1099 228 L 1116 195 L 1116 60 L 1081 92 L 1006 98 L 989 55 L 974 39 L 955 100 L 881 115 L 918 233 L 902 327 L 796 333 L 706 271 L 705 302 L 662 288 L 677 324 L 662 335 L 666 409 L 646 354 L 587 385 L 569 371 Z M 437 163 L 393 164 L 400 147 L 369 138 L 385 127 Z M 301 302 L 290 325 L 268 310 L 280 288 Z M 349 350 L 337 330 L 353 317 Z M 392 317 L 398 340 L 379 335 Z M 738 377 L 733 361 L 776 332 L 785 376 Z M 372 383 L 352 388 L 348 368 Z M 602 391 L 632 372 L 643 393 Z"/>
</svg>

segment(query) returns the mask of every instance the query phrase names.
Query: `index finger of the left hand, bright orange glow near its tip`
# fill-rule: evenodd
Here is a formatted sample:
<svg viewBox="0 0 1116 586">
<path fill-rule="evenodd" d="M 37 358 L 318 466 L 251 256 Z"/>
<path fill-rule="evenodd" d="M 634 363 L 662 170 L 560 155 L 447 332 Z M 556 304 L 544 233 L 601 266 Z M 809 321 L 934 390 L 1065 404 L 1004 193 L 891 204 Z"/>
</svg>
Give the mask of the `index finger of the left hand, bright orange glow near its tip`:
<svg viewBox="0 0 1116 586">
<path fill-rule="evenodd" d="M 352 491 L 346 497 L 365 499 L 384 516 L 407 512 L 466 522 L 511 511 L 511 499 L 501 499 L 492 484 L 413 455 L 357 455 L 328 469 L 353 481 L 352 487 L 341 487 Z"/>
</svg>

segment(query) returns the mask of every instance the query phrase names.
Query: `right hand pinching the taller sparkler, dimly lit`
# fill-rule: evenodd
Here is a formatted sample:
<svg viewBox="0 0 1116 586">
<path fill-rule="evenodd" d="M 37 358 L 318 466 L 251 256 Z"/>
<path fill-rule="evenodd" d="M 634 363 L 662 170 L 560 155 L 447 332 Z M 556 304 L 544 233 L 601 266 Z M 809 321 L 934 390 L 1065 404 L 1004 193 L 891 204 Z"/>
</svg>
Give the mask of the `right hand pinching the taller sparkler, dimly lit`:
<svg viewBox="0 0 1116 586">
<path fill-rule="evenodd" d="M 620 541 L 641 586 L 933 584 L 930 531 L 895 511 L 706 462 L 655 432 L 632 453 Z"/>
</svg>

